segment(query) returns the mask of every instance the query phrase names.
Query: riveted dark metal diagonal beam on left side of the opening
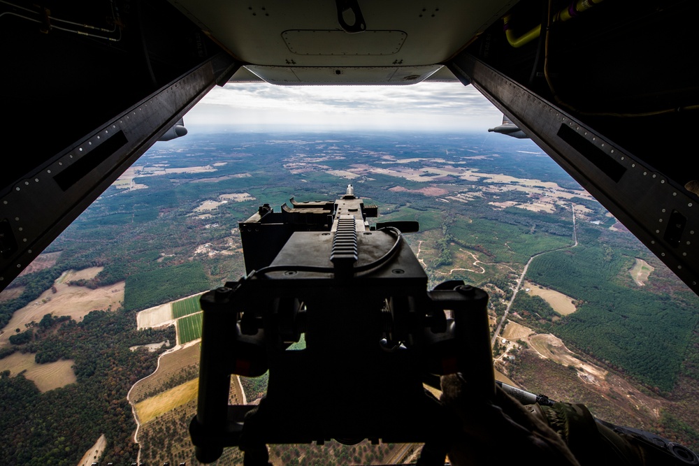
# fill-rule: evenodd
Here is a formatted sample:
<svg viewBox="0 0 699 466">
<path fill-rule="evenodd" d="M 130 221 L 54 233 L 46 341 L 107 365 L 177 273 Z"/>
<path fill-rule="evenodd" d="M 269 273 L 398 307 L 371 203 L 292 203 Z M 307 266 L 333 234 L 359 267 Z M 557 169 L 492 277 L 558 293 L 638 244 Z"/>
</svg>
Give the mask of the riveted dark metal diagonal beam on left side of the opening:
<svg viewBox="0 0 699 466">
<path fill-rule="evenodd" d="M 237 68 L 229 55 L 217 54 L 16 180 L 0 198 L 0 291 Z"/>
</svg>

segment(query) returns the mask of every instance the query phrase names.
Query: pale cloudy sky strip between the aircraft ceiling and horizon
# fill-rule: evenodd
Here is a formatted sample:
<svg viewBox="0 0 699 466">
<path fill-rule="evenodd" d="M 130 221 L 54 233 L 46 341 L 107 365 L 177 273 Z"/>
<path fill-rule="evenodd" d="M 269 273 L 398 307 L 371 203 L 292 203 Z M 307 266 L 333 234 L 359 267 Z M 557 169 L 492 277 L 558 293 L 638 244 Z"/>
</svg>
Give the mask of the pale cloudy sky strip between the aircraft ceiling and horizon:
<svg viewBox="0 0 699 466">
<path fill-rule="evenodd" d="M 185 126 L 245 131 L 487 131 L 503 119 L 473 86 L 215 87 L 185 115 Z"/>
</svg>

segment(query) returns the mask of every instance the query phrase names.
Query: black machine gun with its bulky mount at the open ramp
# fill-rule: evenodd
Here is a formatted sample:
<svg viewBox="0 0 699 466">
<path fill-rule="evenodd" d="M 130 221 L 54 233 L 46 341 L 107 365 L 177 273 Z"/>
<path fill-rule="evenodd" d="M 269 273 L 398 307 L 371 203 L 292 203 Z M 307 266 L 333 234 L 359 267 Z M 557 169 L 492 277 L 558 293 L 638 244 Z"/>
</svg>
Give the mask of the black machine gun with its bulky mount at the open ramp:
<svg viewBox="0 0 699 466">
<path fill-rule="evenodd" d="M 240 223 L 247 276 L 201 297 L 199 461 L 224 446 L 252 465 L 267 464 L 266 444 L 443 439 L 453 415 L 423 385 L 442 374 L 493 397 L 487 293 L 455 280 L 428 291 L 402 236 L 417 222 L 369 226 L 376 216 L 350 184 L 337 201 L 292 198 Z M 259 406 L 229 405 L 231 374 L 267 371 Z"/>
</svg>

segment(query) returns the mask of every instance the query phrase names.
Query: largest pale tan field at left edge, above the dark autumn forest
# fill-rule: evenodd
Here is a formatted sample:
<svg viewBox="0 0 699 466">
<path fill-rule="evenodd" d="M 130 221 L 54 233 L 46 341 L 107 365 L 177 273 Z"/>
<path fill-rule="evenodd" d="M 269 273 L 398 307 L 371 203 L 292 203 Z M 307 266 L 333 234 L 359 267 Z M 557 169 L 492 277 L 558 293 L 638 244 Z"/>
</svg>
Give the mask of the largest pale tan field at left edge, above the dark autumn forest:
<svg viewBox="0 0 699 466">
<path fill-rule="evenodd" d="M 25 324 L 41 321 L 45 314 L 71 316 L 75 321 L 82 321 L 84 316 L 94 310 L 117 310 L 124 301 L 124 282 L 92 290 L 86 286 L 58 283 L 62 277 L 54 285 L 56 293 L 50 289 L 44 291 L 36 300 L 15 311 L 10 322 L 3 328 L 0 346 L 8 344 L 8 338 L 15 333 L 16 328 L 24 330 Z"/>
</svg>

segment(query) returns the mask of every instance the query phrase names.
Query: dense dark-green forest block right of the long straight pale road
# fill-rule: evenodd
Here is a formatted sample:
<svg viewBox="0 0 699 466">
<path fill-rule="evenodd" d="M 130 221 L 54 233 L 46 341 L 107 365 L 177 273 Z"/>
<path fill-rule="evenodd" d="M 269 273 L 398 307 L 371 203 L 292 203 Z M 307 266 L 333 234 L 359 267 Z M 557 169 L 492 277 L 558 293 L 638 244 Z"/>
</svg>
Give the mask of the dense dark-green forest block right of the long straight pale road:
<svg viewBox="0 0 699 466">
<path fill-rule="evenodd" d="M 633 265 L 633 256 L 624 253 L 605 245 L 581 245 L 537 257 L 528 278 L 582 302 L 573 314 L 542 327 L 668 393 L 681 371 L 699 312 L 689 305 L 691 296 L 673 298 L 620 282 Z"/>
</svg>

